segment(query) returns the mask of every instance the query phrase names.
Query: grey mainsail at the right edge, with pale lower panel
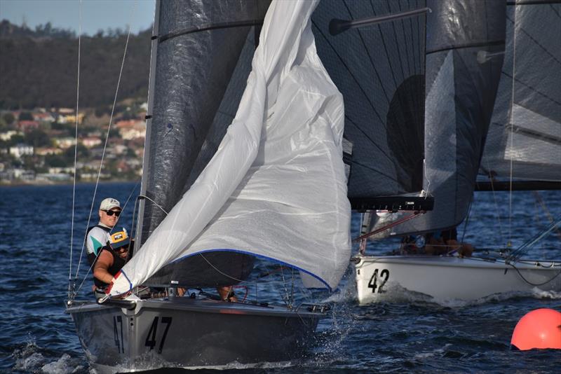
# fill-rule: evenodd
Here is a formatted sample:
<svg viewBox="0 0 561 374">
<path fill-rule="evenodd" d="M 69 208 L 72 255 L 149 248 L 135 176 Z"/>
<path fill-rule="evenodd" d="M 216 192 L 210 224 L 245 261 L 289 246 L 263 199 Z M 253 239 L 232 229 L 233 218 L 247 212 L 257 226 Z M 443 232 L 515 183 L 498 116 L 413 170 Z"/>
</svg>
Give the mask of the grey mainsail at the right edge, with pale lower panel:
<svg viewBox="0 0 561 374">
<path fill-rule="evenodd" d="M 511 1 L 506 19 L 505 63 L 480 174 L 561 181 L 561 1 Z"/>
</svg>

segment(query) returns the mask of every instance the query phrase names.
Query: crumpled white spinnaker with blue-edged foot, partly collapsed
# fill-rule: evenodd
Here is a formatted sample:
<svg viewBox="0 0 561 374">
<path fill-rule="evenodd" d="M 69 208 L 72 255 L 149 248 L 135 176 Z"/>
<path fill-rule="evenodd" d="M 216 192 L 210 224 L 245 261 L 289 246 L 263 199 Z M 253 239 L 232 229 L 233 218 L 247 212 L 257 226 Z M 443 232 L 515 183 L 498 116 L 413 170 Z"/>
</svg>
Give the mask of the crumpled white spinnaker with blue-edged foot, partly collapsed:
<svg viewBox="0 0 561 374">
<path fill-rule="evenodd" d="M 316 5 L 271 4 L 217 153 L 117 275 L 111 295 L 170 262 L 215 250 L 271 258 L 337 286 L 351 254 L 344 107 L 316 54 Z"/>
</svg>

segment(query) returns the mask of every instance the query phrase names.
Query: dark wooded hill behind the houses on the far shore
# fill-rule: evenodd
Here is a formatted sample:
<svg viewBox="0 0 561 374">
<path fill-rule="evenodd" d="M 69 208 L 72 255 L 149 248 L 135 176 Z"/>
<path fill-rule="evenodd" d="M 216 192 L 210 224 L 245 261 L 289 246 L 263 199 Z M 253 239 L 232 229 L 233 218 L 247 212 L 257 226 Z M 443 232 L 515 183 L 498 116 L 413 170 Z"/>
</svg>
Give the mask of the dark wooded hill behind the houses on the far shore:
<svg viewBox="0 0 561 374">
<path fill-rule="evenodd" d="M 118 100 L 146 98 L 151 30 L 131 35 Z M 80 106 L 112 104 L 126 34 L 81 39 Z M 49 24 L 36 30 L 0 23 L 0 109 L 76 106 L 78 38 Z"/>
</svg>

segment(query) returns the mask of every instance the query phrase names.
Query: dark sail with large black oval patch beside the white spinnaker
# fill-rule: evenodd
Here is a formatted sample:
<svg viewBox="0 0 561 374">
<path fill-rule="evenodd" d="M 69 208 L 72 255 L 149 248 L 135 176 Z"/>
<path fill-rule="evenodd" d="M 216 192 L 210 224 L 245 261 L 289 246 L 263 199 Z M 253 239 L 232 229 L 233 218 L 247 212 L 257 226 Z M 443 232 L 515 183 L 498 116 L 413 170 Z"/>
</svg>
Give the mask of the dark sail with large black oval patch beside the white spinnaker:
<svg viewBox="0 0 561 374">
<path fill-rule="evenodd" d="M 424 8 L 425 1 L 323 0 L 313 14 L 318 55 L 344 97 L 349 200 L 422 188 L 425 19 L 416 15 L 330 34 L 333 19 L 379 18 Z"/>
</svg>

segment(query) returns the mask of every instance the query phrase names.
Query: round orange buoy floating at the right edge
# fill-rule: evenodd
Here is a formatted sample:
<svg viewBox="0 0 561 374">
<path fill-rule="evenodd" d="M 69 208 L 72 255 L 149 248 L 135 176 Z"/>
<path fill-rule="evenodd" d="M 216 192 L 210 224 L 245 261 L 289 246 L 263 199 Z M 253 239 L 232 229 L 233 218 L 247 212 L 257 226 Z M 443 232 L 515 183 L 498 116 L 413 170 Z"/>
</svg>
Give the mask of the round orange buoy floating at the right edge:
<svg viewBox="0 0 561 374">
<path fill-rule="evenodd" d="M 518 321 L 511 345 L 525 351 L 532 348 L 561 349 L 561 312 L 536 309 Z"/>
</svg>

